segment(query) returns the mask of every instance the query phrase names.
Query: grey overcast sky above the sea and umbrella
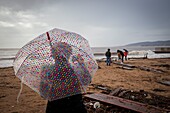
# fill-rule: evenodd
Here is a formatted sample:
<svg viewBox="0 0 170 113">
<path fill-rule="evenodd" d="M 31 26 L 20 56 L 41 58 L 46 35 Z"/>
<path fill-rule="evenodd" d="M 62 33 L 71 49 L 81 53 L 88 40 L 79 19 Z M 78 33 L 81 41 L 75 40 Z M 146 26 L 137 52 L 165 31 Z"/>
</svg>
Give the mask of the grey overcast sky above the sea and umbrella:
<svg viewBox="0 0 170 113">
<path fill-rule="evenodd" d="M 0 48 L 59 28 L 92 47 L 170 39 L 170 0 L 0 0 Z"/>
</svg>

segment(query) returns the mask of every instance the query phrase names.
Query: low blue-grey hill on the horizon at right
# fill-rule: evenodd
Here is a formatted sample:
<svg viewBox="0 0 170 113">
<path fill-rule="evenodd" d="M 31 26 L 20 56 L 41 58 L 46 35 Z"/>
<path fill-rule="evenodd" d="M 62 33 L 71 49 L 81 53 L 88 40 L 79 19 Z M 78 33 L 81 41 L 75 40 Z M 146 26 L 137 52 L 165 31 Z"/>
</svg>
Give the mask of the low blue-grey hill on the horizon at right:
<svg viewBox="0 0 170 113">
<path fill-rule="evenodd" d="M 126 46 L 170 46 L 170 40 L 167 41 L 154 41 L 154 42 L 138 42 L 128 44 Z"/>
</svg>

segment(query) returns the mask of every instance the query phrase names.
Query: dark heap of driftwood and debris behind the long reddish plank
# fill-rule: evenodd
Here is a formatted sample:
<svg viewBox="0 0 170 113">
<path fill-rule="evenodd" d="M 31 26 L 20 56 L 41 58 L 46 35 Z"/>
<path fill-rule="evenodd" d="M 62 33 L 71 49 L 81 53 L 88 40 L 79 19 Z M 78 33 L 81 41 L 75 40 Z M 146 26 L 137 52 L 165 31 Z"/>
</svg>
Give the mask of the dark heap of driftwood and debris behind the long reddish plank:
<svg viewBox="0 0 170 113">
<path fill-rule="evenodd" d="M 144 90 L 133 91 L 130 89 L 123 89 L 122 87 L 113 89 L 108 86 L 97 85 L 97 84 L 92 84 L 91 86 L 96 89 L 101 90 L 102 91 L 101 93 L 104 93 L 104 94 L 107 94 L 110 96 L 117 96 L 117 97 L 125 98 L 128 100 L 133 100 L 133 101 L 137 101 L 140 103 L 149 104 L 149 105 L 156 106 L 159 108 L 170 109 L 170 106 L 169 106 L 170 98 L 156 95 L 154 93 L 150 93 L 150 92 L 147 92 Z M 154 89 L 153 91 L 154 92 L 155 91 L 156 92 L 163 92 L 163 91 L 166 92 L 169 90 Z M 94 93 L 94 92 L 91 92 L 91 93 Z"/>
</svg>

